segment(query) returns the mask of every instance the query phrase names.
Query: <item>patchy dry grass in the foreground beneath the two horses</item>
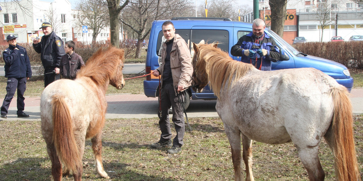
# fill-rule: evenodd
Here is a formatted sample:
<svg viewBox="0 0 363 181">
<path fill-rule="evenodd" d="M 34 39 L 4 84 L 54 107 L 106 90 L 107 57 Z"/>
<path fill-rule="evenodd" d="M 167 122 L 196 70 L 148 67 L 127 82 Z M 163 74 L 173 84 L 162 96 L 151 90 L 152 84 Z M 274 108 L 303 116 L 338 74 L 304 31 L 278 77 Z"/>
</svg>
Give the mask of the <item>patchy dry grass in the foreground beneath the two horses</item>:
<svg viewBox="0 0 363 181">
<path fill-rule="evenodd" d="M 108 119 L 103 129 L 103 164 L 110 179 L 97 176 L 90 141 L 83 155 L 82 180 L 93 181 L 232 181 L 231 148 L 219 118 L 189 119 L 193 131 L 185 132 L 177 155 L 167 148 L 149 147 L 160 136 L 158 119 Z M 354 117 L 359 169 L 363 172 L 363 115 Z M 171 125 L 173 127 L 174 125 Z M 174 129 L 172 129 L 175 135 Z M 0 180 L 48 181 L 51 164 L 41 135 L 40 121 L 0 122 Z M 325 142 L 319 158 L 326 180 L 335 180 L 333 156 Z M 256 181 L 307 181 L 292 143 L 270 145 L 253 142 Z M 73 177 L 63 178 L 73 181 Z"/>
</svg>

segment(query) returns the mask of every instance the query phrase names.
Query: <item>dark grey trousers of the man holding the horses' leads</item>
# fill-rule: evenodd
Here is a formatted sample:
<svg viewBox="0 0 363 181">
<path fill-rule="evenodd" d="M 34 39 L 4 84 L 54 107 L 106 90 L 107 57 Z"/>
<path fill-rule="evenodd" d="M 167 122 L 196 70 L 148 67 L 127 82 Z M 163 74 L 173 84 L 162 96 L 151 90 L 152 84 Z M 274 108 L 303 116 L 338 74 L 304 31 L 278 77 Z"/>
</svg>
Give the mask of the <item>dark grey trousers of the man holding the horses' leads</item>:
<svg viewBox="0 0 363 181">
<path fill-rule="evenodd" d="M 179 94 L 180 95 L 180 94 Z M 176 136 L 173 140 L 173 146 L 181 147 L 183 146 L 183 137 L 184 137 L 184 116 L 183 116 L 183 107 L 181 107 L 180 102 L 178 101 L 178 97 L 175 94 L 175 88 L 172 83 L 164 84 L 161 89 L 161 110 L 162 114 L 159 120 L 160 126 L 160 140 L 170 140 L 171 139 L 171 130 L 170 130 L 170 121 L 169 121 L 169 109 L 172 108 L 173 116 L 171 120 L 174 122 Z M 184 98 L 184 94 L 179 96 L 180 100 Z M 158 113 L 160 114 L 160 113 Z"/>
</svg>

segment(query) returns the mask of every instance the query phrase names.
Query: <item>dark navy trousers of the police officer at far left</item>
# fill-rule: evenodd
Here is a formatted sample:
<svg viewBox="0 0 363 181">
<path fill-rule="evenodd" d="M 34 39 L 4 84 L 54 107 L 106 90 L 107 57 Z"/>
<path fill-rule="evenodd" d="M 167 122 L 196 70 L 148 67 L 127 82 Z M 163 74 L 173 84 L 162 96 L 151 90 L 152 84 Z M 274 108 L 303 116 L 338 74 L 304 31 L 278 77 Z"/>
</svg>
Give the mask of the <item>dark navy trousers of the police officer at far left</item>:
<svg viewBox="0 0 363 181">
<path fill-rule="evenodd" d="M 6 86 L 6 95 L 1 106 L 1 114 L 8 114 L 8 109 L 11 100 L 15 95 L 15 90 L 17 89 L 17 115 L 21 115 L 24 111 L 24 92 L 26 89 L 26 77 L 23 78 L 8 78 Z"/>
</svg>

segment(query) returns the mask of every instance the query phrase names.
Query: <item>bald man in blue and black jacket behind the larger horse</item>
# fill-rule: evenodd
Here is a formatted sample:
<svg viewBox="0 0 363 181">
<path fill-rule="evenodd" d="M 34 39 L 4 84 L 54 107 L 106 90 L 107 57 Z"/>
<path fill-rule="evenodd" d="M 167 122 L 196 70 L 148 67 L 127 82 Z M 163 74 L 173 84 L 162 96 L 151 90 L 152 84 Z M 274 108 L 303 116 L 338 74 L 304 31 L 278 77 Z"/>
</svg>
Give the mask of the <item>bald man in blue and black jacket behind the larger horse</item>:
<svg viewBox="0 0 363 181">
<path fill-rule="evenodd" d="M 252 22 L 252 32 L 243 35 L 231 48 L 231 55 L 240 56 L 241 62 L 253 64 L 258 70 L 271 70 L 271 62 L 280 59 L 275 40 L 266 34 L 264 20 Z"/>
</svg>

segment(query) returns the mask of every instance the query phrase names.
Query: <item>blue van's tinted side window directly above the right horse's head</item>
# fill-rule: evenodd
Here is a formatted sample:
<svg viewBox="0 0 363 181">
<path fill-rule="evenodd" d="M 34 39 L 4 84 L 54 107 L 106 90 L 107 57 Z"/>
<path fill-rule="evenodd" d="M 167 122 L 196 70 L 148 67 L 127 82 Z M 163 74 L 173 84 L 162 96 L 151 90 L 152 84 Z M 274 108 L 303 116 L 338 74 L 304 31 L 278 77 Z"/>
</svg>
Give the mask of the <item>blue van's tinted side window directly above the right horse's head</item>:
<svg viewBox="0 0 363 181">
<path fill-rule="evenodd" d="M 218 47 L 228 52 L 229 34 L 227 30 L 192 30 L 192 42 L 199 43 L 202 39 L 207 43 L 218 42 Z"/>
</svg>

